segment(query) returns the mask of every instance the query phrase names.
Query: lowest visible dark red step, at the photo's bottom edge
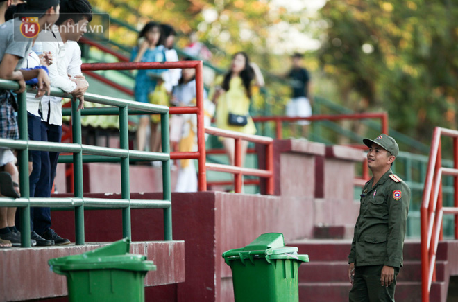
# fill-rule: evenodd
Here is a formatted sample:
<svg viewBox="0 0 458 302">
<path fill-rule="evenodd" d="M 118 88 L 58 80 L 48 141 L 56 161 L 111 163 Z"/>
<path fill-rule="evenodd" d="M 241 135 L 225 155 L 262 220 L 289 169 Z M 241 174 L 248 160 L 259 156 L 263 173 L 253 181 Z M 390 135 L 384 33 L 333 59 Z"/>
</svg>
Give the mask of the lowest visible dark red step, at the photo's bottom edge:
<svg viewBox="0 0 458 302">
<path fill-rule="evenodd" d="M 445 282 L 435 282 L 431 287 L 430 301 L 446 301 L 443 293 Z M 299 283 L 300 302 L 347 302 L 351 285 L 349 282 Z M 420 282 L 400 282 L 396 285 L 395 300 L 402 302 L 421 301 Z"/>
</svg>

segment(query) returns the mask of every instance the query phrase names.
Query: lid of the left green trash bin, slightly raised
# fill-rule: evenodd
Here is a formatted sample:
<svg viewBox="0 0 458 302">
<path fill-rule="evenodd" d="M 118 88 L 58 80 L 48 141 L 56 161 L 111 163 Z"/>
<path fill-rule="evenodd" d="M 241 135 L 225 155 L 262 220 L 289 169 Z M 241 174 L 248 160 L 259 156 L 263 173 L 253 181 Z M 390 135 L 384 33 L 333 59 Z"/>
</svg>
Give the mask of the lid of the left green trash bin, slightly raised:
<svg viewBox="0 0 458 302">
<path fill-rule="evenodd" d="M 106 247 L 83 254 L 49 259 L 48 264 L 56 274 L 91 269 L 123 269 L 127 271 L 152 271 L 156 267 L 146 256 L 128 254 L 130 241 L 127 238 Z"/>
</svg>

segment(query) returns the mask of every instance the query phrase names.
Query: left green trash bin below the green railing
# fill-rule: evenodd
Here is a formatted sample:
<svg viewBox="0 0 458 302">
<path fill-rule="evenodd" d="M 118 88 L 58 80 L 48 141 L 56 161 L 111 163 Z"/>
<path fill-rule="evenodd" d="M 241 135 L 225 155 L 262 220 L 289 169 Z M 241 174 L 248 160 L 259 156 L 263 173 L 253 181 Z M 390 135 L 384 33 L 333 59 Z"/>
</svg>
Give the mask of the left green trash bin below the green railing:
<svg viewBox="0 0 458 302">
<path fill-rule="evenodd" d="M 128 254 L 124 238 L 79 255 L 49 259 L 56 274 L 67 276 L 69 301 L 144 301 L 144 277 L 156 269 L 146 256 Z"/>
</svg>

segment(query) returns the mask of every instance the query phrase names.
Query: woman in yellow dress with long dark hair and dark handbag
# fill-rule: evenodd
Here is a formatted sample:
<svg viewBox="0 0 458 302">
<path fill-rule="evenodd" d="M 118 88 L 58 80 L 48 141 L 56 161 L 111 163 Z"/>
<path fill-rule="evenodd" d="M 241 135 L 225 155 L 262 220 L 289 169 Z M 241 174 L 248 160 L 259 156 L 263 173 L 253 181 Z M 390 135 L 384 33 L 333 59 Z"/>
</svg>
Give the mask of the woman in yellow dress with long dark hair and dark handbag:
<svg viewBox="0 0 458 302">
<path fill-rule="evenodd" d="M 218 85 L 219 84 L 219 85 Z M 244 52 L 232 57 L 230 69 L 217 79 L 212 101 L 217 104 L 217 127 L 225 130 L 255 134 L 256 127 L 250 109 L 252 85 L 264 86 L 264 78 L 257 64 Z M 234 139 L 222 138 L 230 164 L 234 165 Z M 241 141 L 241 164 L 244 165 L 248 141 Z"/>
</svg>

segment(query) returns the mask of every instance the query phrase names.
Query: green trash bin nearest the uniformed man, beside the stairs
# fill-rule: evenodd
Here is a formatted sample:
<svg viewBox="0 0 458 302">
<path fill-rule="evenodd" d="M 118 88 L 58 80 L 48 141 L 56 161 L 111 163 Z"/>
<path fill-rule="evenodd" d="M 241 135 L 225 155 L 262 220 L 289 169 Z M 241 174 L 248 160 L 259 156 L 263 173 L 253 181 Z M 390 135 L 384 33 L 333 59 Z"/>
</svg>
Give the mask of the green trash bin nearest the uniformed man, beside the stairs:
<svg viewBox="0 0 458 302">
<path fill-rule="evenodd" d="M 309 262 L 297 247 L 285 247 L 282 233 L 266 233 L 246 247 L 223 253 L 232 270 L 236 302 L 299 301 L 298 267 Z"/>
</svg>

